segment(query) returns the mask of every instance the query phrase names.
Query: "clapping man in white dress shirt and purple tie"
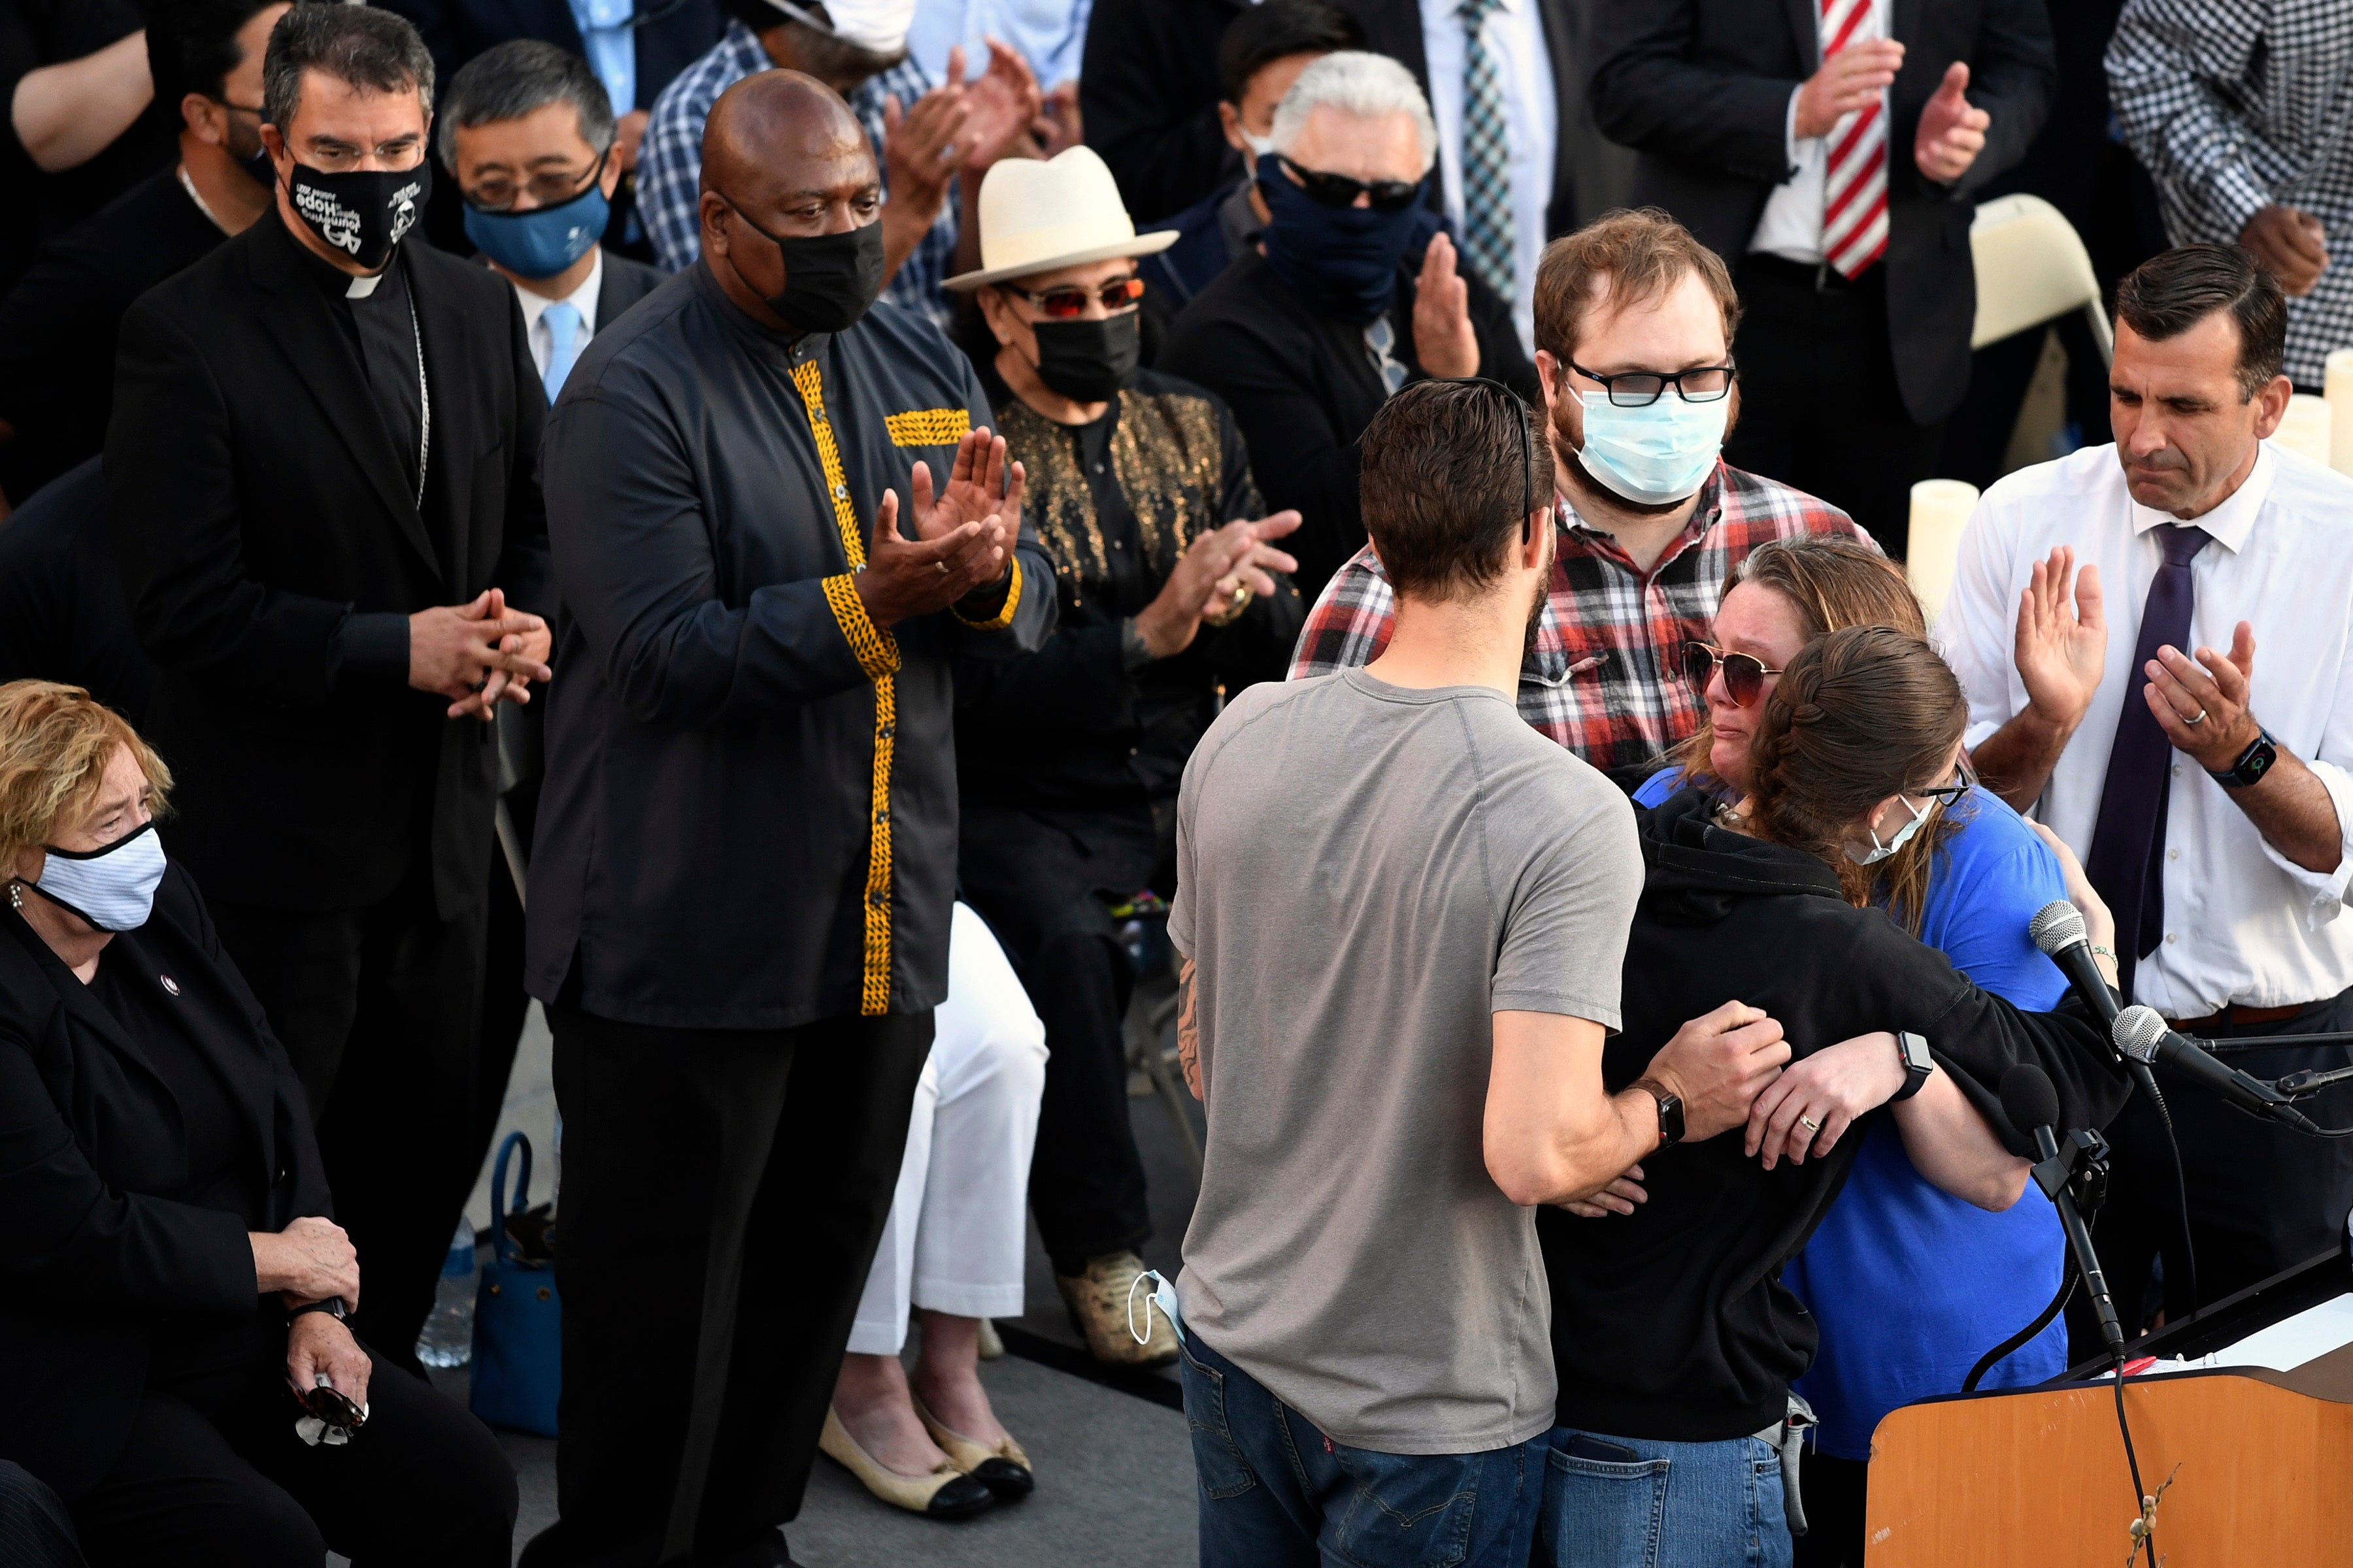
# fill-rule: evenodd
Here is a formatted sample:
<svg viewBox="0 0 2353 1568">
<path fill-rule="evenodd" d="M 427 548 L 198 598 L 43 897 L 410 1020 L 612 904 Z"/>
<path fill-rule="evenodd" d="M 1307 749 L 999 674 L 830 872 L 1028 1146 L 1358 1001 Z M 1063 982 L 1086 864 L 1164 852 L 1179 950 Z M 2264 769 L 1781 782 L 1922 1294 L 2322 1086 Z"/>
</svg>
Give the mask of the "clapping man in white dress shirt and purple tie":
<svg viewBox="0 0 2353 1568">
<path fill-rule="evenodd" d="M 2348 1053 L 2247 1041 L 2353 1027 L 2353 480 L 2264 440 L 2287 409 L 2285 331 L 2278 282 L 2240 247 L 2132 273 L 2115 444 L 1986 491 L 1939 628 L 1979 773 L 2082 856 L 2127 997 L 2242 1041 L 2231 1065 L 2264 1079 Z M 2193 1246 L 2137 1098 L 2111 1128 L 2099 1237 L 2127 1328 L 2151 1255 L 2179 1316 L 2329 1251 L 2353 1204 L 2346 1143 L 2254 1121 L 2165 1067 L 2158 1081 Z M 2344 1091 L 2306 1110 L 2353 1124 Z"/>
</svg>

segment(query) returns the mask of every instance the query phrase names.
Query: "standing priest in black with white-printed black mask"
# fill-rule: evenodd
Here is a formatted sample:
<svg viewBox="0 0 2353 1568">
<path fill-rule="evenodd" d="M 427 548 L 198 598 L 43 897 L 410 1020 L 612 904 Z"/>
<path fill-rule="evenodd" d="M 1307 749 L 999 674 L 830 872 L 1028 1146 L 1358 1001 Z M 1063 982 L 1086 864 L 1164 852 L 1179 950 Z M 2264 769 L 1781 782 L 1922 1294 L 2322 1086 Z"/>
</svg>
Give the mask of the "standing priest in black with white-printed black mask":
<svg viewBox="0 0 2353 1568">
<path fill-rule="evenodd" d="M 264 63 L 275 209 L 122 317 L 106 503 L 158 665 L 172 856 L 285 1041 L 412 1361 L 473 1131 L 494 703 L 548 677 L 546 395 L 506 280 L 402 244 L 433 59 L 304 5 Z"/>
</svg>

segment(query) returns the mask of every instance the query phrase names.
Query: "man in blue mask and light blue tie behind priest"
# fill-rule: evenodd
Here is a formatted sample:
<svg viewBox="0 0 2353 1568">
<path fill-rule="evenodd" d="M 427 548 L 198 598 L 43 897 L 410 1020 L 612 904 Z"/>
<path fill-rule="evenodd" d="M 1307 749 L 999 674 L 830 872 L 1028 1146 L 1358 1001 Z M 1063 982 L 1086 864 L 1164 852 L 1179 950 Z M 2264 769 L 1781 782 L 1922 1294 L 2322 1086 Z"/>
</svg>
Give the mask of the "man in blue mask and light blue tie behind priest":
<svg viewBox="0 0 2353 1568">
<path fill-rule="evenodd" d="M 553 404 L 588 339 L 664 282 L 598 244 L 621 183 L 612 99 L 579 54 L 518 38 L 449 82 L 440 155 L 466 195 L 466 237 L 515 284 Z"/>
</svg>

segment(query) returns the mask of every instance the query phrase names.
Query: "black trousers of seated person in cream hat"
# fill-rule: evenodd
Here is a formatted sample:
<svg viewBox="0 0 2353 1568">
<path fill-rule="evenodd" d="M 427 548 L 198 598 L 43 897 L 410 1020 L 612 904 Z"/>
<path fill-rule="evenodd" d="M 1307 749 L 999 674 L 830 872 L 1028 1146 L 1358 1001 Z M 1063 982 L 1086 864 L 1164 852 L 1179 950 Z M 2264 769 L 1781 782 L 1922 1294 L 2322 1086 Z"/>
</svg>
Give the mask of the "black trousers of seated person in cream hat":
<svg viewBox="0 0 2353 1568">
<path fill-rule="evenodd" d="M 988 922 L 1045 1023 L 1031 1215 L 1056 1274 L 1080 1274 L 1089 1258 L 1141 1248 L 1153 1234 L 1144 1157 L 1127 1119 L 1122 1023 L 1136 976 L 1106 898 L 1158 882 L 1158 860 L 1148 809 L 965 806 L 965 900 Z M 1174 889 L 1174 877 L 1162 886 Z"/>
</svg>

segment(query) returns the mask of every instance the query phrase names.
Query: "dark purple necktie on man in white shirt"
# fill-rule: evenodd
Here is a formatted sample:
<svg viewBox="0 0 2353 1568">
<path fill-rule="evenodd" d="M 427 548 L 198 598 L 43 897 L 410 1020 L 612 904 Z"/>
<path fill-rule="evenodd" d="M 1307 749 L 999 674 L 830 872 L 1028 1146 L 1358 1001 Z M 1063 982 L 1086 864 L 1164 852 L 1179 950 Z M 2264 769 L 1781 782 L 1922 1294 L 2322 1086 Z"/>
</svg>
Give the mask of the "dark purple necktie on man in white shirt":
<svg viewBox="0 0 2353 1568">
<path fill-rule="evenodd" d="M 2115 745 L 2108 750 L 2108 780 L 2099 790 L 2099 823 L 2092 827 L 2092 853 L 2082 870 L 2115 914 L 2118 990 L 2132 1001 L 2132 971 L 2165 940 L 2165 809 L 2172 799 L 2174 743 L 2165 738 L 2141 686 L 2144 670 L 2160 646 L 2186 649 L 2191 609 L 2191 559 L 2205 550 L 2209 534 L 2188 524 L 2160 527 L 2158 543 L 2165 564 L 2148 583 L 2141 604 L 2141 639 L 2132 649 L 2125 679 L 2125 712 L 2115 719 Z"/>
</svg>

